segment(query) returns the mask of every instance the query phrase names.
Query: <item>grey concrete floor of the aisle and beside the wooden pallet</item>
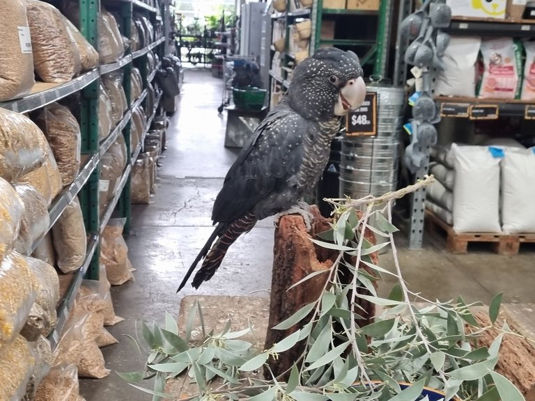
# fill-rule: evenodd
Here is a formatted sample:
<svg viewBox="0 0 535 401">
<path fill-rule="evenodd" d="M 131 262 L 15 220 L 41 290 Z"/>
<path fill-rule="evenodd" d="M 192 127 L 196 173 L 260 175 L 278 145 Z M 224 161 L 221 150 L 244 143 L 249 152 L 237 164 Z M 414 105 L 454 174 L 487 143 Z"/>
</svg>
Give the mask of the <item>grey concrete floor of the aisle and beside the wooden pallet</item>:
<svg viewBox="0 0 535 401">
<path fill-rule="evenodd" d="M 199 291 L 188 285 L 176 294 L 189 263 L 212 231 L 212 202 L 237 155 L 236 150 L 224 148 L 225 118 L 217 113 L 221 100 L 220 79 L 212 78 L 208 70 L 185 72 L 179 109 L 167 132 L 157 194 L 150 205 L 133 209 L 127 244 L 136 279 L 112 288 L 116 313 L 125 318 L 109 330 L 120 343 L 102 349 L 112 372 L 105 379 L 82 380 L 87 401 L 151 400 L 115 373 L 142 365 L 136 347 L 123 336 L 135 336 L 137 320 L 162 322 L 166 310 L 177 316 L 180 299 L 187 294 L 269 296 L 274 233 L 270 219 L 231 246 L 222 267 Z M 504 292 L 505 302 L 535 303 L 533 247 L 522 245 L 515 256 L 499 256 L 487 249 L 451 255 L 441 239 L 426 237 L 418 251 L 406 249 L 404 233 L 397 239 L 405 280 L 424 297 L 447 300 L 462 294 L 467 301 L 488 303 L 494 294 Z M 393 268 L 391 251 L 380 255 L 380 264 Z M 391 285 L 385 277 L 380 292 L 387 294 Z"/>
</svg>

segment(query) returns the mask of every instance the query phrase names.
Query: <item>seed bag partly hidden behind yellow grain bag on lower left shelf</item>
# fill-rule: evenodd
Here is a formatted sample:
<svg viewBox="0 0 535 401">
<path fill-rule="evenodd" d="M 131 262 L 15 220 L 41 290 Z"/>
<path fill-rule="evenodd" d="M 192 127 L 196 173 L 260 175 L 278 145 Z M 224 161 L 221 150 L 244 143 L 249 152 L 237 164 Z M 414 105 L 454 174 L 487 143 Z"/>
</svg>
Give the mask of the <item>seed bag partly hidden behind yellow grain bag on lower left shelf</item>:
<svg viewBox="0 0 535 401">
<path fill-rule="evenodd" d="M 26 340 L 36 341 L 40 336 L 48 336 L 56 325 L 59 278 L 56 269 L 42 260 L 26 258 L 26 262 L 38 282 L 37 296 L 20 333 Z"/>
</svg>

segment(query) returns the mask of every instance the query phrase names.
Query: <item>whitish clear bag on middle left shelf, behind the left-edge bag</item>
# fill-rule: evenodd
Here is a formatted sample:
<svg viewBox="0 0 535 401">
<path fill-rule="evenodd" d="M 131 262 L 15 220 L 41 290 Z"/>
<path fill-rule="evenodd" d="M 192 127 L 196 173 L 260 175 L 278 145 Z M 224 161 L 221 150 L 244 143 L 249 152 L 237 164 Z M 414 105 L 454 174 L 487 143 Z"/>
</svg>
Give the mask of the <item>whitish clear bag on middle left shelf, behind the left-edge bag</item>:
<svg viewBox="0 0 535 401">
<path fill-rule="evenodd" d="M 28 184 L 13 184 L 13 189 L 24 203 L 20 231 L 15 240 L 15 251 L 30 255 L 33 244 L 45 236 L 50 224 L 47 201 Z"/>
</svg>

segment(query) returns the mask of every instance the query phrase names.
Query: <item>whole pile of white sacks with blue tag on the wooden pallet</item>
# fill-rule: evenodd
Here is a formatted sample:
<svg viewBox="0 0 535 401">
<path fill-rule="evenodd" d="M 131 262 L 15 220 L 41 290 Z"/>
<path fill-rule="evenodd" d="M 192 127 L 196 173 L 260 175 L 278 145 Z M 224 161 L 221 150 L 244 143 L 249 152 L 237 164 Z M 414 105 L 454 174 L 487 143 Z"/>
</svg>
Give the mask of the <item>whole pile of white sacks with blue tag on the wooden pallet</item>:
<svg viewBox="0 0 535 401">
<path fill-rule="evenodd" d="M 426 207 L 456 233 L 535 233 L 535 148 L 513 140 L 434 148 Z"/>
</svg>

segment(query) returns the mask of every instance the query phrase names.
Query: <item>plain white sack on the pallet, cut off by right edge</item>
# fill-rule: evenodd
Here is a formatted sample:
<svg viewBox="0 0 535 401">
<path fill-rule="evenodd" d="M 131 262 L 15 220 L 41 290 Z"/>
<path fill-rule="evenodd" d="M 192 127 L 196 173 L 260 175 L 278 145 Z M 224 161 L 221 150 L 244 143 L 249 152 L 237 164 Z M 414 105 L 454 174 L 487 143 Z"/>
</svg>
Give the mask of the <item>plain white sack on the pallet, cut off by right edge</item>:
<svg viewBox="0 0 535 401">
<path fill-rule="evenodd" d="M 535 233 L 535 148 L 506 149 L 502 159 L 504 233 Z"/>
</svg>

